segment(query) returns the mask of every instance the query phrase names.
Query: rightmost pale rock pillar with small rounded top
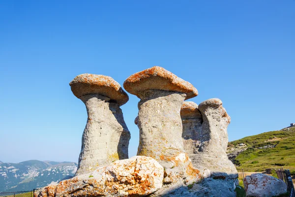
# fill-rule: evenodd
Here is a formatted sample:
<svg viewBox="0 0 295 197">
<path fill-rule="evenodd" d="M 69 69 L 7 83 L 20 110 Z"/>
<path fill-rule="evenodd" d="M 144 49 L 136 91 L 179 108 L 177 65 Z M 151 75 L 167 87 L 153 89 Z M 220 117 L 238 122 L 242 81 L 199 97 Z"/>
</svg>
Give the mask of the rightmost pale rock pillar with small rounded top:
<svg viewBox="0 0 295 197">
<path fill-rule="evenodd" d="M 228 159 L 226 147 L 228 144 L 227 127 L 230 117 L 222 106 L 220 99 L 208 99 L 198 106 L 202 113 L 203 123 L 199 130 L 199 145 L 190 159 L 198 169 L 209 169 L 211 173 L 227 173 L 237 175 L 235 165 Z"/>
</svg>

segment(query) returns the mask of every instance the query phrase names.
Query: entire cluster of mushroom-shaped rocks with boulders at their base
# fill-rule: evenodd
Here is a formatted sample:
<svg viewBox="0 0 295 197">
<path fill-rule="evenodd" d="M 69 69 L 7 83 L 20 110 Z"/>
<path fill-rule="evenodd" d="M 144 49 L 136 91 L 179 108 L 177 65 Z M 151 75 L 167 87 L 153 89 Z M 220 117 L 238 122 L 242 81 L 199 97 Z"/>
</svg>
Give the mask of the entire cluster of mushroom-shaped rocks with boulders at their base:
<svg viewBox="0 0 295 197">
<path fill-rule="evenodd" d="M 78 170 L 34 197 L 236 196 L 237 172 L 225 152 L 230 117 L 221 100 L 184 102 L 197 89 L 159 66 L 123 85 L 140 98 L 138 156 L 127 159 L 130 132 L 119 108 L 127 94 L 111 77 L 78 75 L 70 86 L 88 112 Z"/>
</svg>

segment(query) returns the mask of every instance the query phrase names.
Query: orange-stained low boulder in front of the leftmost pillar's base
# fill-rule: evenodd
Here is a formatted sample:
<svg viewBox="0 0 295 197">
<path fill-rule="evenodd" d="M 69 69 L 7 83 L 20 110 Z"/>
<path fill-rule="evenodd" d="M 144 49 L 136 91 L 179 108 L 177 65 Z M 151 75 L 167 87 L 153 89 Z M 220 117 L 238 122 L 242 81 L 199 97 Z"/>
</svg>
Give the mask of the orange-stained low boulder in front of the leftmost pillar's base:
<svg viewBox="0 0 295 197">
<path fill-rule="evenodd" d="M 154 159 L 135 156 L 43 188 L 34 197 L 146 196 L 162 187 L 164 168 Z"/>
</svg>

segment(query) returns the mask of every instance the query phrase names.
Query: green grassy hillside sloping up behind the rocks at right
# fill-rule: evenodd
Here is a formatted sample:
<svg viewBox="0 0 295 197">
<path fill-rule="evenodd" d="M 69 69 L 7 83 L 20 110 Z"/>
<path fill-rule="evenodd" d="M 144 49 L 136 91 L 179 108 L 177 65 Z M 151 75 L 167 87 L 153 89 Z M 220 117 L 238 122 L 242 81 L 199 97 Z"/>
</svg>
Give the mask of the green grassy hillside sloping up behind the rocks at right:
<svg viewBox="0 0 295 197">
<path fill-rule="evenodd" d="M 228 157 L 237 168 L 295 170 L 295 127 L 229 142 Z"/>
</svg>

